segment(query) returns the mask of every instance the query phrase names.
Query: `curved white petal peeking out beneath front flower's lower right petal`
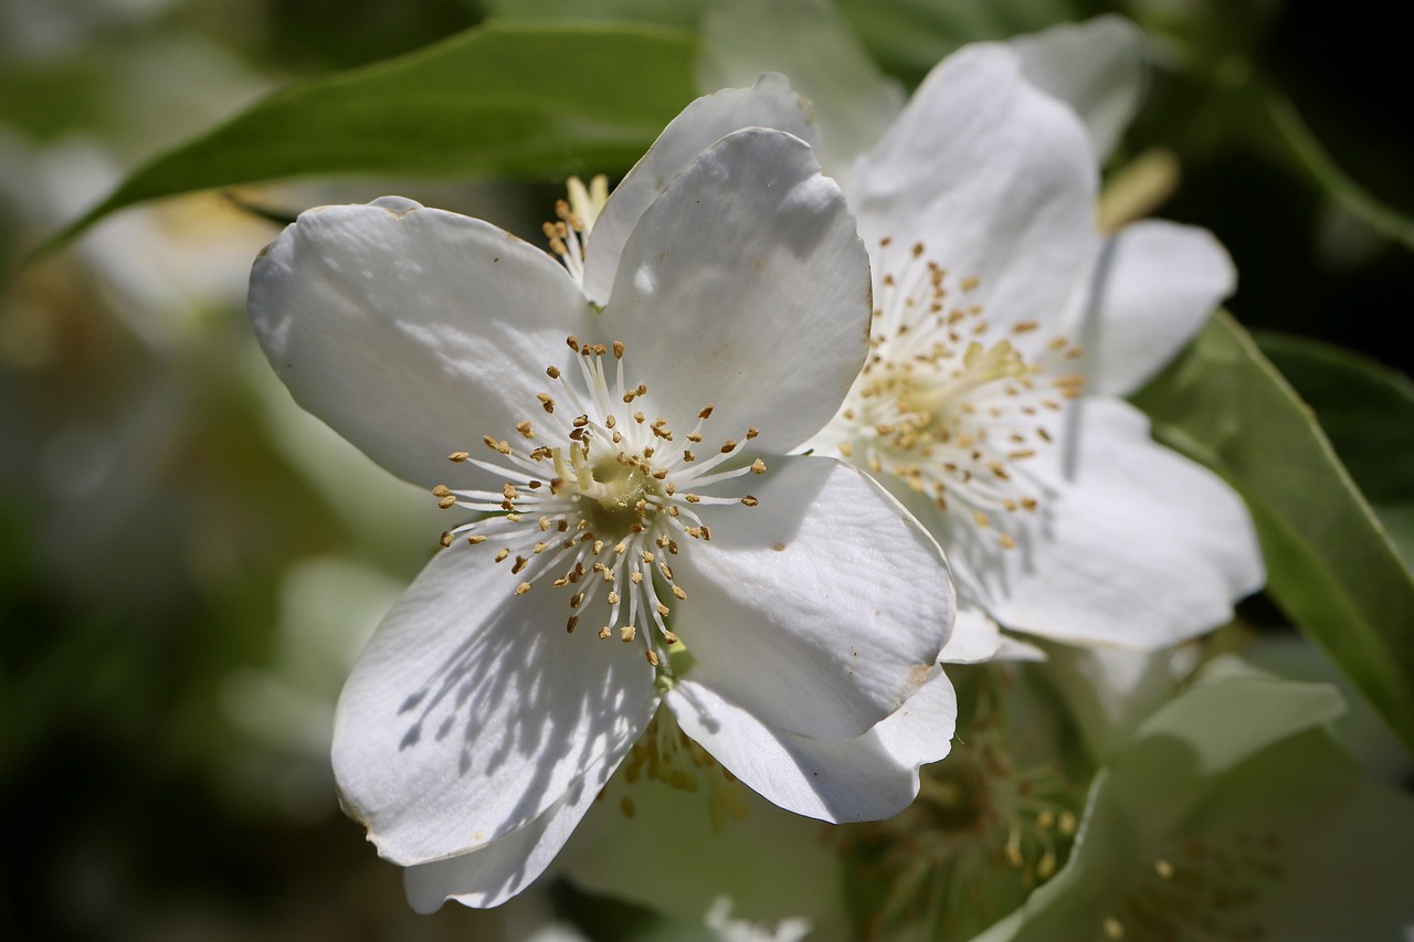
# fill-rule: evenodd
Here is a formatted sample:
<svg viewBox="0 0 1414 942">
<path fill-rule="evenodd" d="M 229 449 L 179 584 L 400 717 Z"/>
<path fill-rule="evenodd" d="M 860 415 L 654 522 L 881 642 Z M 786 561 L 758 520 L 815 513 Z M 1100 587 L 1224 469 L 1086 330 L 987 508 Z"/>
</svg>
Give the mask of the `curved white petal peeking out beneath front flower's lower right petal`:
<svg viewBox="0 0 1414 942">
<path fill-rule="evenodd" d="M 689 676 L 667 693 L 683 731 L 775 805 L 829 822 L 892 818 L 918 796 L 918 767 L 952 748 L 957 699 L 942 670 L 864 735 L 820 743 L 762 724 Z"/>
</svg>

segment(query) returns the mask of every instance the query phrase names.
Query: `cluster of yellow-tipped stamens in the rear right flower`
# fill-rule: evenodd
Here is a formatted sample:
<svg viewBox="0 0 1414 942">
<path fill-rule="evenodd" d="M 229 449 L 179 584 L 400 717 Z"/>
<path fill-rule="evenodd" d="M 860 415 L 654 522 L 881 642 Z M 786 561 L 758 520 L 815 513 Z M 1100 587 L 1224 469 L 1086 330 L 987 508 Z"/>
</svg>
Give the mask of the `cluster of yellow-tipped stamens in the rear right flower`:
<svg viewBox="0 0 1414 942">
<path fill-rule="evenodd" d="M 882 239 L 880 255 L 889 246 Z M 1063 337 L 1031 344 L 1035 322 L 1014 324 L 998 338 L 970 300 L 977 287 L 974 277 L 954 287 L 925 259 L 922 242 L 882 277 L 871 352 L 840 416 L 851 429 L 840 450 L 942 511 L 960 505 L 1012 549 L 997 518 L 1039 506 L 1044 495 L 1028 484 L 1024 463 L 1052 443 L 1048 416 L 1080 395 L 1083 378 L 1063 365 L 1082 351 Z"/>
</svg>

